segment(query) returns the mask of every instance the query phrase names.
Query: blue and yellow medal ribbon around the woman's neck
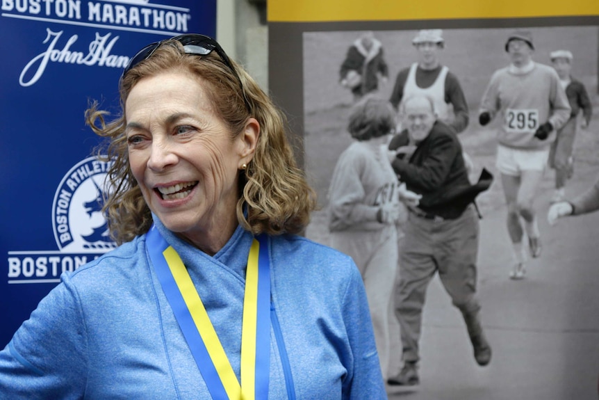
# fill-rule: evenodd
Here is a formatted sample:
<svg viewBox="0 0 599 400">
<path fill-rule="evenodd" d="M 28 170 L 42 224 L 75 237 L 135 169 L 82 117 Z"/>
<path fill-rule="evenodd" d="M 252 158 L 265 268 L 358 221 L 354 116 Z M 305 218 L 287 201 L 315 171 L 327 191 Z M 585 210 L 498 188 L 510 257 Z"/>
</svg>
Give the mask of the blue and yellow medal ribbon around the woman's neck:
<svg viewBox="0 0 599 400">
<path fill-rule="evenodd" d="M 151 230 L 147 235 L 147 247 L 155 266 L 158 280 L 163 285 L 163 290 L 177 317 L 183 335 L 190 345 L 192 354 L 198 364 L 204 381 L 211 391 L 213 399 L 226 400 L 254 400 L 259 397 L 268 397 L 268 369 L 270 367 L 270 273 L 268 271 L 268 245 L 263 239 L 261 244 L 254 239 L 247 259 L 247 272 L 245 278 L 245 295 L 243 300 L 243 323 L 241 333 L 241 385 L 231 367 L 227 354 L 222 348 L 220 339 L 214 329 L 204 303 L 199 297 L 190 275 L 171 246 L 158 233 L 163 246 L 156 250 L 154 241 L 157 229 Z M 150 246 L 151 245 L 151 246 Z M 154 257 L 159 249 L 163 257 Z M 263 246 L 263 248 L 261 248 Z M 154 250 L 151 250 L 154 248 Z M 264 268 L 263 264 L 265 258 Z M 165 262 L 161 262 L 163 259 Z M 167 268 L 164 268 L 167 266 Z M 158 271 L 161 270 L 161 271 Z M 169 273 L 170 272 L 170 273 Z M 170 276 L 169 276 L 170 275 Z M 169 282 L 168 279 L 172 278 Z M 174 282 L 173 282 L 174 281 Z M 174 285 L 172 285 L 174 283 Z M 178 292 L 178 293 L 177 293 Z M 260 319 L 260 323 L 259 323 Z M 265 321 L 267 321 L 265 323 Z M 266 326 L 259 326 L 266 325 Z M 195 330 L 193 329 L 195 326 Z M 197 335 L 199 334 L 199 337 Z M 199 344 L 198 342 L 202 342 Z M 256 358 L 256 349 L 260 349 Z M 210 360 L 206 360 L 203 353 L 207 351 Z M 214 378 L 213 370 L 218 374 L 218 381 Z M 260 369 L 259 373 L 256 370 Z M 258 375 L 258 378 L 256 376 Z M 266 379 L 266 381 L 264 381 Z M 256 386 L 259 390 L 256 391 Z M 224 392 L 223 390 L 224 389 Z M 226 394 L 226 397 L 224 397 Z"/>
</svg>

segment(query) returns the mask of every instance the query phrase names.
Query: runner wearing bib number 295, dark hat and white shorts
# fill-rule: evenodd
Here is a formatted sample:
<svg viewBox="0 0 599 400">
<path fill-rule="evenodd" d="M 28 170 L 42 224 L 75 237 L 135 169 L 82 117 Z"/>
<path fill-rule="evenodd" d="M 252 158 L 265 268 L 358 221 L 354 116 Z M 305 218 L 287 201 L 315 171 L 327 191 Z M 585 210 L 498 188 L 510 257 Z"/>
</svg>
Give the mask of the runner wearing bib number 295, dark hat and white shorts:
<svg viewBox="0 0 599 400">
<path fill-rule="evenodd" d="M 480 125 L 500 115 L 496 165 L 507 202 L 507 230 L 514 249 L 511 279 L 525 276 L 527 237 L 532 257 L 541 255 L 541 233 L 534 209 L 550 146 L 556 132 L 570 118 L 570 105 L 552 67 L 532 61 L 530 31 L 514 31 L 505 51 L 510 65 L 495 71 L 482 97 Z M 520 223 L 522 218 L 523 223 Z"/>
</svg>

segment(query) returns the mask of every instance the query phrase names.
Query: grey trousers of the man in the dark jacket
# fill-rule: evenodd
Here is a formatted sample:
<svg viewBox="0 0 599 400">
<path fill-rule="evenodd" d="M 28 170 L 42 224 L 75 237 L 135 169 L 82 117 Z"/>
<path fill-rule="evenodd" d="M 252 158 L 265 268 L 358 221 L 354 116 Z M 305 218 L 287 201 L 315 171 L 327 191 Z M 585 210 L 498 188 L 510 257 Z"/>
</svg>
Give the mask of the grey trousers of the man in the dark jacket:
<svg viewBox="0 0 599 400">
<path fill-rule="evenodd" d="M 472 205 L 459 218 L 444 221 L 410 213 L 400 252 L 400 282 L 395 291 L 395 317 L 400 323 L 402 360 L 420 360 L 418 342 L 422 307 L 435 273 L 460 310 L 477 312 L 479 223 Z"/>
</svg>

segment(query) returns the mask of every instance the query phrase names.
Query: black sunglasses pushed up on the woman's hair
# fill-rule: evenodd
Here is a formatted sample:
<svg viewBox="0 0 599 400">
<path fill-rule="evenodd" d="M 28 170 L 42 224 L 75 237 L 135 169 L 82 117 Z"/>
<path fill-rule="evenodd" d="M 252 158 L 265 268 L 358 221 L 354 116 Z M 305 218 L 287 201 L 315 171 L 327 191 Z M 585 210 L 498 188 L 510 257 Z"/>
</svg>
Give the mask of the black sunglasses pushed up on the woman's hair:
<svg viewBox="0 0 599 400">
<path fill-rule="evenodd" d="M 227 65 L 227 67 L 229 67 L 229 70 L 231 70 L 231 72 L 233 72 L 233 75 L 235 75 L 235 77 L 237 78 L 237 81 L 239 82 L 239 87 L 241 88 L 241 93 L 243 94 L 245 108 L 248 112 L 249 110 L 251 110 L 249 102 L 247 101 L 247 97 L 245 96 L 243 83 L 241 83 L 241 79 L 237 74 L 235 68 L 233 67 L 233 64 L 231 63 L 229 56 L 227 56 L 227 53 L 224 52 L 224 50 L 222 49 L 222 47 L 220 47 L 216 40 L 206 35 L 199 35 L 198 33 L 188 33 L 186 35 L 179 35 L 175 36 L 174 38 L 161 40 L 160 42 L 150 43 L 149 45 L 138 51 L 137 54 L 129 60 L 129 63 L 123 70 L 121 79 L 123 79 L 127 72 L 131 71 L 131 68 L 135 67 L 142 61 L 150 58 L 152 54 L 154 54 L 154 51 L 156 51 L 158 47 L 161 47 L 163 42 L 165 42 L 166 40 L 177 40 L 177 42 L 183 45 L 183 49 L 185 50 L 186 54 L 192 54 L 195 56 L 207 56 L 208 54 L 211 54 L 213 51 L 216 51 L 216 54 L 220 56 L 223 63 Z"/>
</svg>

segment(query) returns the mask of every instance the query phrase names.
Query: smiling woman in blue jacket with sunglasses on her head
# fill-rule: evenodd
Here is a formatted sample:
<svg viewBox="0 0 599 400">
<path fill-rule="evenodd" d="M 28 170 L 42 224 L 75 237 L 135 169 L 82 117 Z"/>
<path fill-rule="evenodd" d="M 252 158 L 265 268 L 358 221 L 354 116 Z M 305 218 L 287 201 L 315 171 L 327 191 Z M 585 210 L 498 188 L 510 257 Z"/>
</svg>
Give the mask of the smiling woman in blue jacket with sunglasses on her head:
<svg viewBox="0 0 599 400">
<path fill-rule="evenodd" d="M 86 113 L 108 139 L 120 246 L 63 274 L 17 330 L 0 393 L 386 399 L 356 264 L 298 235 L 315 195 L 268 95 L 203 35 L 144 47 L 120 94 L 115 120 Z"/>
</svg>

